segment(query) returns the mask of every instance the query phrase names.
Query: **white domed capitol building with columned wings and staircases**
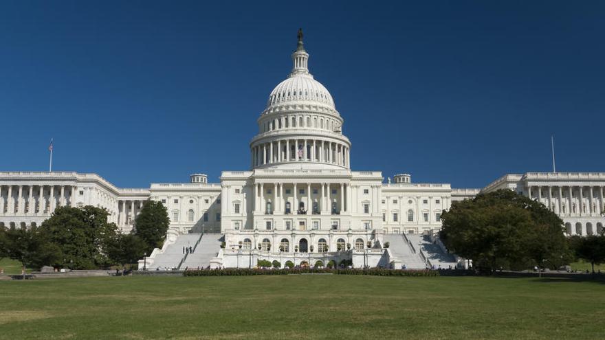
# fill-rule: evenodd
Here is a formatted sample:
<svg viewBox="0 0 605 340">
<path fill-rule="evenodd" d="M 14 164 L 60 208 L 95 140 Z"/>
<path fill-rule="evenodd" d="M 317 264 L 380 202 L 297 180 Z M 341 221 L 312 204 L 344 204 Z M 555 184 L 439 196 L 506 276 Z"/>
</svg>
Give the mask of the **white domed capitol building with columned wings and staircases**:
<svg viewBox="0 0 605 340">
<path fill-rule="evenodd" d="M 140 268 L 248 268 L 258 260 L 451 267 L 460 259 L 436 236 L 441 213 L 452 201 L 509 188 L 558 214 L 567 235 L 602 231 L 605 172 L 505 174 L 485 188 L 454 189 L 406 173 L 391 180 L 379 170 L 351 170 L 346 113 L 310 73 L 300 31 L 292 64 L 257 120 L 247 170 L 223 171 L 220 183 L 200 173 L 149 188 L 117 188 L 98 174 L 0 172 L 0 227 L 41 225 L 56 207 L 95 205 L 126 233 L 151 199 L 168 209 L 170 229 Z M 183 254 L 185 246 L 194 253 Z"/>
</svg>

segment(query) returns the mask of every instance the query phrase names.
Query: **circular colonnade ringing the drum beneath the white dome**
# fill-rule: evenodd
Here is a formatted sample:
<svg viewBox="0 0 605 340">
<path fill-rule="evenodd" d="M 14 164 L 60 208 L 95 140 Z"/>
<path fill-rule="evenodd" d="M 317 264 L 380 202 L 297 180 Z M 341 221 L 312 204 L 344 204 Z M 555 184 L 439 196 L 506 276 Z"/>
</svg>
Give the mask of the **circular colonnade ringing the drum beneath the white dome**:
<svg viewBox="0 0 605 340">
<path fill-rule="evenodd" d="M 256 144 L 251 149 L 252 168 L 270 163 L 314 161 L 350 167 L 350 148 L 344 144 L 319 139 L 279 139 Z"/>
</svg>

